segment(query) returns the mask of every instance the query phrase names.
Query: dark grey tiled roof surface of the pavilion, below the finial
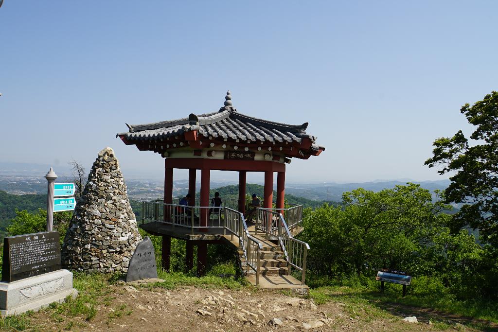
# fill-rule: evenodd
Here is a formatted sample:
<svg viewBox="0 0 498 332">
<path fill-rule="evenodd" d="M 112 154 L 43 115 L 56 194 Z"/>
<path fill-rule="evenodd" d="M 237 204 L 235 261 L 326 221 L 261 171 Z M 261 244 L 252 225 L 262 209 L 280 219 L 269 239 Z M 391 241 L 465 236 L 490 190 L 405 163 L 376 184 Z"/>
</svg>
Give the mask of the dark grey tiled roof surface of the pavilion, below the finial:
<svg viewBox="0 0 498 332">
<path fill-rule="evenodd" d="M 189 117 L 178 120 L 128 125 L 129 131 L 117 136 L 124 136 L 128 141 L 149 141 L 197 130 L 200 135 L 215 139 L 291 143 L 309 138 L 315 142 L 316 137 L 306 133 L 307 126 L 308 123 L 291 125 L 267 121 L 241 114 L 233 107 L 226 106 L 218 112 L 198 116 L 190 114 Z M 319 146 L 313 144 L 311 149 L 318 150 Z"/>
</svg>

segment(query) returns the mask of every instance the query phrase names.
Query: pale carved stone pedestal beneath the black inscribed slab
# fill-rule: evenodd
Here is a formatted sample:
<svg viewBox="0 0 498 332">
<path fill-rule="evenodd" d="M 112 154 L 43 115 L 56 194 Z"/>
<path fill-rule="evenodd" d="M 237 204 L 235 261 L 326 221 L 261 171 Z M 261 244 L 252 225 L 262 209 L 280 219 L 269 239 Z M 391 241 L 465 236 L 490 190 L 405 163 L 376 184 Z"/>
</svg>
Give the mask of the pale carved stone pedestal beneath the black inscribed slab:
<svg viewBox="0 0 498 332">
<path fill-rule="evenodd" d="M 64 302 L 78 291 L 73 288 L 73 274 L 58 270 L 13 282 L 0 282 L 0 314 L 20 314 L 28 310 L 37 311 L 52 302 Z"/>
</svg>

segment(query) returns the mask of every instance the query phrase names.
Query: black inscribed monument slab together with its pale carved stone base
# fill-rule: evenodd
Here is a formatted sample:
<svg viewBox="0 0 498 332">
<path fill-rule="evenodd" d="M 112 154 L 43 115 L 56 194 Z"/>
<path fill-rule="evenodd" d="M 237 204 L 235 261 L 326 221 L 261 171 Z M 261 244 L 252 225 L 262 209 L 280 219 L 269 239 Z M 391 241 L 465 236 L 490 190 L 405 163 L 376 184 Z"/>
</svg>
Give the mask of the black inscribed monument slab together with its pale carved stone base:
<svg viewBox="0 0 498 332">
<path fill-rule="evenodd" d="M 59 232 L 5 237 L 3 241 L 1 316 L 38 310 L 76 296 L 73 274 L 61 267 Z"/>
</svg>

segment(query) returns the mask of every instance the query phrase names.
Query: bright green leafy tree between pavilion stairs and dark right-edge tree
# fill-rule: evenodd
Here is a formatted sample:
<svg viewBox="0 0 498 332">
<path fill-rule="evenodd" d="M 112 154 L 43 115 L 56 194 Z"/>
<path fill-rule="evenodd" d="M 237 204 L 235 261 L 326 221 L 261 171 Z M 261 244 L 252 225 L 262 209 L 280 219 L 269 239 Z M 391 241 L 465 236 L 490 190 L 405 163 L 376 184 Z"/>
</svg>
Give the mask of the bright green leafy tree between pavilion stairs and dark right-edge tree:
<svg viewBox="0 0 498 332">
<path fill-rule="evenodd" d="M 348 278 L 378 268 L 434 271 L 433 237 L 450 219 L 451 206 L 432 201 L 428 190 L 408 183 L 372 192 L 344 193 L 344 207 L 307 210 L 301 238 L 310 244 L 308 267 L 329 278 Z"/>
</svg>

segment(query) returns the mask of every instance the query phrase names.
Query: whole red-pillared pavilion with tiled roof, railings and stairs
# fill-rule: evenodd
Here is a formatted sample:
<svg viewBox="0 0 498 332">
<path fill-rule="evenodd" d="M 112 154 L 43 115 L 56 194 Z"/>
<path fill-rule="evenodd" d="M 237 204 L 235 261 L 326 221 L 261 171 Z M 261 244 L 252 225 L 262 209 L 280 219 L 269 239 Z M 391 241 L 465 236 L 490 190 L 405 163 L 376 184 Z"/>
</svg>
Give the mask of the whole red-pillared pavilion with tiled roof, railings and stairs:
<svg viewBox="0 0 498 332">
<path fill-rule="evenodd" d="M 285 207 L 285 168 L 291 158 L 318 156 L 324 147 L 306 133 L 308 123 L 290 125 L 239 113 L 227 92 L 219 111 L 148 124 L 128 125 L 119 133 L 127 145 L 154 151 L 165 158 L 164 199 L 142 203 L 140 227 L 162 236 L 162 266 L 169 269 L 171 237 L 185 240 L 188 268 L 207 265 L 208 244 L 237 248 L 241 272 L 262 288 L 307 288 L 309 245 L 295 238 L 302 230 L 302 206 Z M 173 203 L 173 170 L 189 170 L 190 201 Z M 195 202 L 196 171 L 201 172 L 200 202 Z M 210 207 L 210 171 L 239 172 L 236 206 Z M 264 173 L 262 207 L 246 222 L 247 172 Z M 273 203 L 273 178 L 276 203 Z M 300 275 L 297 279 L 294 276 Z M 299 277 L 299 276 L 298 276 Z"/>
</svg>

